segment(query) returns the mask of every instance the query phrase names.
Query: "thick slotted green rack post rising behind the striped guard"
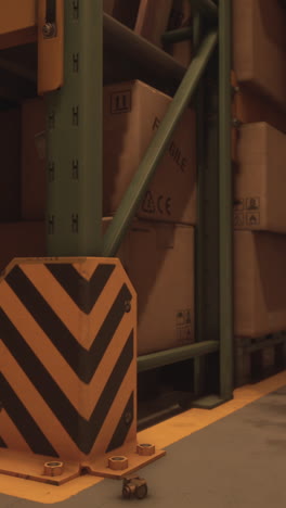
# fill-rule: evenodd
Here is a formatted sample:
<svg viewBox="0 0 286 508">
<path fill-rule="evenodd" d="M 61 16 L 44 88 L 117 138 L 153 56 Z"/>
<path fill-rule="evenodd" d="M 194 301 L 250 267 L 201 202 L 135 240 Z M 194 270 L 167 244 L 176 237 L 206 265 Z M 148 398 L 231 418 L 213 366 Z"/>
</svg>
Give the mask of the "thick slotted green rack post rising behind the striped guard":
<svg viewBox="0 0 286 508">
<path fill-rule="evenodd" d="M 49 93 L 49 256 L 96 256 L 102 243 L 102 0 L 65 0 L 64 86 Z"/>
</svg>

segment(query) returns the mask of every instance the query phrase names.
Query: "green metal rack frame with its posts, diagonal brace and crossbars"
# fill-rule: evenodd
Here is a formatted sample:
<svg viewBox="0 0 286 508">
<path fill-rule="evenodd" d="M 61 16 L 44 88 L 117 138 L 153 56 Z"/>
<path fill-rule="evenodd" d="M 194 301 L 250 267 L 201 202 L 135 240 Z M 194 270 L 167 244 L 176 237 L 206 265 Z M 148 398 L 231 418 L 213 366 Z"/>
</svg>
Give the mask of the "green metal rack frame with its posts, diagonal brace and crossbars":
<svg viewBox="0 0 286 508">
<path fill-rule="evenodd" d="M 185 68 L 103 13 L 102 0 L 65 0 L 64 86 L 47 94 L 47 254 L 113 257 L 184 109 L 196 93 L 196 342 L 141 356 L 138 370 L 194 358 L 195 406 L 204 408 L 232 398 L 233 393 L 231 3 L 192 0 L 196 54 Z M 190 35 L 190 29 L 176 30 L 166 33 L 164 39 L 176 41 Z M 202 78 L 206 84 L 208 69 L 213 82 L 212 104 L 208 106 L 212 112 L 205 111 L 203 118 Z M 115 74 L 117 80 L 145 80 L 171 92 L 173 100 L 102 237 L 102 89 Z M 203 396 L 205 359 L 211 353 L 219 354 L 220 388 L 219 393 Z"/>
</svg>

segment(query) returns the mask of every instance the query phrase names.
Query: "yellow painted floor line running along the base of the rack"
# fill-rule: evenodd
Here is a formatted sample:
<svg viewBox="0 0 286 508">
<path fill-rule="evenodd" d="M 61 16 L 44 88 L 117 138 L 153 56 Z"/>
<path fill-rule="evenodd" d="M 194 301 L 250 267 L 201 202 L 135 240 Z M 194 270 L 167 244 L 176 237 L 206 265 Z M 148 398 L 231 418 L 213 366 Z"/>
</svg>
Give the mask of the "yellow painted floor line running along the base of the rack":
<svg viewBox="0 0 286 508">
<path fill-rule="evenodd" d="M 286 384 L 286 371 L 257 384 L 246 385 L 234 391 L 234 398 L 216 409 L 190 409 L 138 434 L 138 441 L 154 443 L 157 448 L 165 448 L 183 437 L 196 432 L 214 421 L 240 409 L 244 406 L 274 392 Z M 162 459 L 164 460 L 164 459 Z M 0 474 L 0 493 L 37 503 L 53 504 L 68 499 L 86 488 L 101 482 L 95 477 L 80 477 L 61 487 L 46 485 L 18 478 Z"/>
</svg>

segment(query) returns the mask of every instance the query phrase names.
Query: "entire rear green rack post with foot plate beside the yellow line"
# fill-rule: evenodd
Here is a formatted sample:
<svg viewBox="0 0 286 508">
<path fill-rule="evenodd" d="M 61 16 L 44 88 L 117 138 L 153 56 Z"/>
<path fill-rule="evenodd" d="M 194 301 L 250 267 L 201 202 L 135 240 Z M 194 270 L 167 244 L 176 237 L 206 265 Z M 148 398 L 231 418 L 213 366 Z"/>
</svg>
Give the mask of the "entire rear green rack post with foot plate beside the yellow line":
<svg viewBox="0 0 286 508">
<path fill-rule="evenodd" d="M 212 2 L 209 2 L 212 4 Z M 199 330 L 204 340 L 220 341 L 219 396 L 195 401 L 212 408 L 233 392 L 233 242 L 231 165 L 231 0 L 218 2 L 219 49 L 209 63 L 205 109 L 204 174 L 199 176 L 199 245 L 197 284 Z M 202 205 L 204 204 L 204 207 Z M 202 229 L 203 228 L 203 229 Z M 202 261 L 203 259 L 203 261 Z M 209 364 L 211 365 L 211 364 Z M 195 390 L 202 392 L 202 366 L 195 366 Z M 214 369 L 216 370 L 216 369 Z M 214 378 L 217 378 L 216 371 Z M 216 383 L 216 379 L 213 381 Z"/>
</svg>

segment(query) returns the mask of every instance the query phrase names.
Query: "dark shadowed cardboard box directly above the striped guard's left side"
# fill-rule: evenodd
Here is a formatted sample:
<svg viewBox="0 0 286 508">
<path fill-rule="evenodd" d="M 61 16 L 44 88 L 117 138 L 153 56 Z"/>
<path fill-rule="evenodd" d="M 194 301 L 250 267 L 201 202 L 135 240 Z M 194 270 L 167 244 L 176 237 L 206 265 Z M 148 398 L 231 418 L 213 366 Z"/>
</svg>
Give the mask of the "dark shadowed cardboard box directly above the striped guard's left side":
<svg viewBox="0 0 286 508">
<path fill-rule="evenodd" d="M 44 223 L 2 223 L 0 224 L 0 270 L 14 257 L 46 256 Z"/>
</svg>

